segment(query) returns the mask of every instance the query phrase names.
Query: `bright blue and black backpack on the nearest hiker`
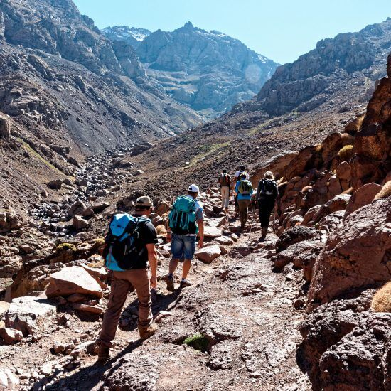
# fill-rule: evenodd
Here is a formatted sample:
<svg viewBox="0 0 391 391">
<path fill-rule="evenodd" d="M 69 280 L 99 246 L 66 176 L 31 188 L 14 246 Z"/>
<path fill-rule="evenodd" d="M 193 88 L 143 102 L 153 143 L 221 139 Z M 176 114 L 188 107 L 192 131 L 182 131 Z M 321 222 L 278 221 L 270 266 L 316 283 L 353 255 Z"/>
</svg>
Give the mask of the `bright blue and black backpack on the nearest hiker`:
<svg viewBox="0 0 391 391">
<path fill-rule="evenodd" d="M 150 221 L 149 218 L 135 218 L 128 213 L 118 213 L 113 216 L 103 250 L 107 269 L 115 272 L 132 269 L 132 264 L 146 251 L 146 247 L 141 250 L 136 248 L 139 227 Z"/>
</svg>

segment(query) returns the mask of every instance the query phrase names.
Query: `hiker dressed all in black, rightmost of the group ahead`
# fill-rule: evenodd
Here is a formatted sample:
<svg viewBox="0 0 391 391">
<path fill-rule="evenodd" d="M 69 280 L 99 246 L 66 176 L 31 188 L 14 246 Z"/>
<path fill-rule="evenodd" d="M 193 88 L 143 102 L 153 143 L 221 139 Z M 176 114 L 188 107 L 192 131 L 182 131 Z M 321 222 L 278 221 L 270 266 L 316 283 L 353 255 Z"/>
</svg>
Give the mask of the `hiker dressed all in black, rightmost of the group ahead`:
<svg viewBox="0 0 391 391">
<path fill-rule="evenodd" d="M 263 241 L 267 235 L 270 215 L 274 208 L 274 203 L 278 195 L 278 187 L 274 181 L 272 171 L 266 171 L 263 178 L 258 183 L 256 200 L 259 205 L 259 222 L 262 227 L 262 236 L 259 241 Z"/>
</svg>

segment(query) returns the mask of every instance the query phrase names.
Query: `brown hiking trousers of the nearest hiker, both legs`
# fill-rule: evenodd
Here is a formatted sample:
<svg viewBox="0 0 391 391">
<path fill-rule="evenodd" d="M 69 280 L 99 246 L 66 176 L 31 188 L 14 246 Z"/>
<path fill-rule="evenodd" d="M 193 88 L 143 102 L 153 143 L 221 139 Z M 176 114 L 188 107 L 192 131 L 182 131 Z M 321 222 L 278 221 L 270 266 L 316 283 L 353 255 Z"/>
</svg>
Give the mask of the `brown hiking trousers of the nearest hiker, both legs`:
<svg viewBox="0 0 391 391">
<path fill-rule="evenodd" d="M 139 328 L 148 327 L 152 323 L 151 289 L 146 269 L 132 269 L 125 272 L 113 272 L 112 291 L 105 317 L 103 318 L 102 331 L 97 342 L 105 346 L 111 346 L 117 331 L 119 316 L 127 299 L 128 291 L 135 289 L 139 298 Z"/>
</svg>

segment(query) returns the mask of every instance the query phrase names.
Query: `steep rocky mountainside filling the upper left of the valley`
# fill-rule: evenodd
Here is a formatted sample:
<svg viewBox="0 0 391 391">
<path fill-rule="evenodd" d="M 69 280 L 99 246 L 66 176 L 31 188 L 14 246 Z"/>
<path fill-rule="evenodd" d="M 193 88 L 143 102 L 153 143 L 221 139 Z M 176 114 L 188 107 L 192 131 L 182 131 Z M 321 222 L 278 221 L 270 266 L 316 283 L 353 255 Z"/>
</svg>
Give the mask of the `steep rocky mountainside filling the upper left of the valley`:
<svg viewBox="0 0 391 391">
<path fill-rule="evenodd" d="M 28 210 L 43 183 L 74 176 L 85 156 L 201 123 L 73 1 L 2 0 L 0 42 L 0 208 Z"/>
</svg>

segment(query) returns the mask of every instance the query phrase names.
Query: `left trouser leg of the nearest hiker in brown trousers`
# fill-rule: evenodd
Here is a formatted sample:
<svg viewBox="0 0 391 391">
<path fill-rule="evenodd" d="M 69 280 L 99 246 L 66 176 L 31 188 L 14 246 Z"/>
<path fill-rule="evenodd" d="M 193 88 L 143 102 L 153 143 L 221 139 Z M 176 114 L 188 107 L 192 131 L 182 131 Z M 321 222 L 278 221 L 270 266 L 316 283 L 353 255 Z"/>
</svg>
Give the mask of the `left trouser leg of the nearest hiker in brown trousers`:
<svg viewBox="0 0 391 391">
<path fill-rule="evenodd" d="M 124 302 L 127 299 L 130 286 L 127 279 L 118 278 L 121 277 L 121 273 L 124 272 L 113 273 L 109 303 L 107 304 L 107 310 L 103 318 L 102 331 L 97 340 L 98 343 L 109 347 L 112 345 L 112 340 L 115 337 L 119 316 L 121 315 Z"/>
</svg>

